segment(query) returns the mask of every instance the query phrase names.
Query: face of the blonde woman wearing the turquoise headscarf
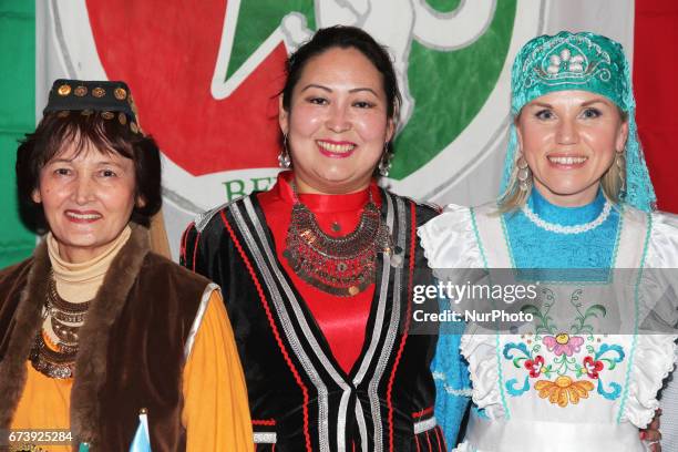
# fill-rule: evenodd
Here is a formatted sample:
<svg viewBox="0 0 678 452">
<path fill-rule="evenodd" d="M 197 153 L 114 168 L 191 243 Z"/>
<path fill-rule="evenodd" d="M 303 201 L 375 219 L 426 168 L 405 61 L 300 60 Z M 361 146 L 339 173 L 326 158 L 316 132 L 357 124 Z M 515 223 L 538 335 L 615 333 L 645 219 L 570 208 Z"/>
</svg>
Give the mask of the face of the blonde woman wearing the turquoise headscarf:
<svg viewBox="0 0 678 452">
<path fill-rule="evenodd" d="M 534 186 L 551 203 L 582 206 L 624 151 L 628 124 L 608 99 L 588 91 L 557 91 L 526 104 L 516 122 Z"/>
</svg>

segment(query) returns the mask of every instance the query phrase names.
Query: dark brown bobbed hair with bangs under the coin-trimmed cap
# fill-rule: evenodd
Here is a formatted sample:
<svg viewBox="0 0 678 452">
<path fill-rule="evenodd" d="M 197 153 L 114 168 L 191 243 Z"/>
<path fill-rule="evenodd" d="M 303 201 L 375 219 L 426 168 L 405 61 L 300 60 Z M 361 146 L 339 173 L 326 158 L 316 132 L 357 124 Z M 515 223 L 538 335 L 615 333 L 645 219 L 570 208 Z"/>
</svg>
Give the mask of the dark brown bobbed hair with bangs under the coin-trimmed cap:
<svg viewBox="0 0 678 452">
<path fill-rule="evenodd" d="M 44 228 L 44 218 L 39 204 L 31 194 L 40 185 L 40 171 L 62 152 L 65 143 L 75 143 L 78 156 L 88 144 L 102 153 L 116 153 L 134 162 L 135 203 L 132 220 L 147 226 L 151 217 L 162 206 L 160 150 L 151 136 L 133 133 L 127 124 L 113 119 L 104 119 L 101 112 L 89 115 L 80 111 L 52 112 L 44 115 L 35 132 L 27 134 L 17 150 L 17 188 L 22 204 L 22 213 L 33 218 L 31 226 Z M 27 212 L 28 209 L 28 212 Z"/>
</svg>

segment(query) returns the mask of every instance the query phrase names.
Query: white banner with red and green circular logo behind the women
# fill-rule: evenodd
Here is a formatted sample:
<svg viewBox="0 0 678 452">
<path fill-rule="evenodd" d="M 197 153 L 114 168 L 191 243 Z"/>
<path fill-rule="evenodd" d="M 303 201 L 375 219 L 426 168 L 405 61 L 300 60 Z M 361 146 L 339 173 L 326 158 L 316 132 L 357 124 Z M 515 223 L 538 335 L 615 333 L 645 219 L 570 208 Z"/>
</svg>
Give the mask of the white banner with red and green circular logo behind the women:
<svg viewBox="0 0 678 452">
<path fill-rule="evenodd" d="M 56 78 L 129 83 L 163 151 L 175 257 L 197 213 L 275 182 L 284 61 L 318 28 L 361 27 L 389 48 L 404 103 L 384 184 L 438 204 L 496 196 L 511 62 L 528 39 L 592 30 L 629 55 L 634 43 L 633 0 L 38 0 L 34 16 L 34 80 L 23 85 L 35 91 L 14 95 L 34 97 L 40 117 Z"/>
</svg>

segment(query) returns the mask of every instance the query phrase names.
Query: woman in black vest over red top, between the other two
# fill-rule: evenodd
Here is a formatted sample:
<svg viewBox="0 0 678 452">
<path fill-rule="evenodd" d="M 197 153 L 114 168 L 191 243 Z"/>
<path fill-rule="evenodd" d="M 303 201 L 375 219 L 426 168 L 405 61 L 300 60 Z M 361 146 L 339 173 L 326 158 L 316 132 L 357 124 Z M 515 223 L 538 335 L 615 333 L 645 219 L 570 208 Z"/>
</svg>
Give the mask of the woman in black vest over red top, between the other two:
<svg viewBox="0 0 678 452">
<path fill-rule="evenodd" d="M 288 60 L 282 172 L 199 216 L 182 261 L 225 289 L 258 451 L 444 450 L 434 335 L 411 335 L 431 282 L 415 227 L 435 210 L 380 189 L 400 96 L 388 53 L 319 30 Z"/>
</svg>

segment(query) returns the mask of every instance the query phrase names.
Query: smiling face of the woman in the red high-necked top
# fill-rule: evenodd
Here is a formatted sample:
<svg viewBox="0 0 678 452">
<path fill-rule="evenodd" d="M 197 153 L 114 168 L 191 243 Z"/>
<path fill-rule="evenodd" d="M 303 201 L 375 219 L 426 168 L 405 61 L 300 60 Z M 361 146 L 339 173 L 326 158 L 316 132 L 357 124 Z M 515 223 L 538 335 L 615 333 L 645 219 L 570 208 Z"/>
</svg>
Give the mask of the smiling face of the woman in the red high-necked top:
<svg viewBox="0 0 678 452">
<path fill-rule="evenodd" d="M 381 73 L 352 48 L 314 56 L 279 112 L 300 193 L 364 189 L 393 134 Z"/>
</svg>

